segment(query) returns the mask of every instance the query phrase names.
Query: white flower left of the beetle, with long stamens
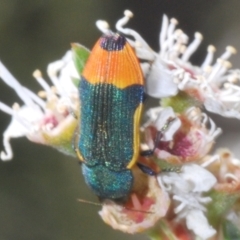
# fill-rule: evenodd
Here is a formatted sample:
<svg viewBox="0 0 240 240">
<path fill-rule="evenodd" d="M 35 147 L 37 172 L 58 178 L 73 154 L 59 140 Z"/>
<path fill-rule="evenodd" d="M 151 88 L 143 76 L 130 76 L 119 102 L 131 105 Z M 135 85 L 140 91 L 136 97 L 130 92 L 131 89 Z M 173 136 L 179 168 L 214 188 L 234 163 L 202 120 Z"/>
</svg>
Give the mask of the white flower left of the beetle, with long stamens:
<svg viewBox="0 0 240 240">
<path fill-rule="evenodd" d="M 70 134 L 76 127 L 76 119 L 71 112 L 77 111 L 78 94 L 72 79 L 79 78 L 71 51 L 68 51 L 61 60 L 48 65 L 48 75 L 53 86 L 42 78 L 39 70 L 33 75 L 43 89 L 38 95 L 46 100 L 22 86 L 0 62 L 1 79 L 15 90 L 24 103 L 22 106 L 15 103 L 10 108 L 0 102 L 0 110 L 12 116 L 10 125 L 3 133 L 5 151 L 1 152 L 2 160 L 10 160 L 13 157 L 10 139 L 23 136 L 71 154 L 71 150 L 66 147 L 71 141 L 69 143 L 64 141 L 72 138 Z M 64 129 L 68 129 L 70 133 L 63 134 Z M 62 138 L 59 138 L 60 133 Z"/>
</svg>

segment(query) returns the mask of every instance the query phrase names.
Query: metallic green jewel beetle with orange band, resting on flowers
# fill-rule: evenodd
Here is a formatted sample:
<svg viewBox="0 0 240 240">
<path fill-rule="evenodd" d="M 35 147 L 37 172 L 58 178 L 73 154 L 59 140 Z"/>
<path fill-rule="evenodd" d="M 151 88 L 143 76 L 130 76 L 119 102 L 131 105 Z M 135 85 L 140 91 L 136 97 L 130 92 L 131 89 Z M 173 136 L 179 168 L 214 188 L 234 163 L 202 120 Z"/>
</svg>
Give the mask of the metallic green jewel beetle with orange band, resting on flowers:
<svg viewBox="0 0 240 240">
<path fill-rule="evenodd" d="M 126 38 L 104 34 L 82 72 L 76 146 L 85 181 L 102 199 L 122 199 L 131 192 L 143 88 L 139 61 Z"/>
</svg>

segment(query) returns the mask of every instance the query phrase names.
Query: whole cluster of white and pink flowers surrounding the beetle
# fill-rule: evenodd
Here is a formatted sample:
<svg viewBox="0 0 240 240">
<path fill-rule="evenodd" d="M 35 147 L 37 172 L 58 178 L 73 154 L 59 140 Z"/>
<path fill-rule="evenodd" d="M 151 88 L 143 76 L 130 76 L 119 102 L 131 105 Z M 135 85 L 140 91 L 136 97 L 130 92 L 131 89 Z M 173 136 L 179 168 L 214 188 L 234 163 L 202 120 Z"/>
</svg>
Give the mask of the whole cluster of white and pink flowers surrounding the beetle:
<svg viewBox="0 0 240 240">
<path fill-rule="evenodd" d="M 104 200 L 99 214 L 114 229 L 145 231 L 152 239 L 240 239 L 240 160 L 228 149 L 211 153 L 222 130 L 206 112 L 240 119 L 240 70 L 230 70 L 228 61 L 236 50 L 228 46 L 214 62 L 215 48 L 209 46 L 202 65 L 193 66 L 189 58 L 202 41 L 200 33 L 188 43 L 188 36 L 176 28 L 177 20 L 163 16 L 160 51 L 155 52 L 139 33 L 125 28 L 132 16 L 126 10 L 116 29 L 128 37 L 141 60 L 145 92 L 159 99 L 158 106 L 146 106 L 139 129 L 141 152 L 153 154 L 142 154 L 138 163 L 154 174 L 148 176 L 135 166 L 129 199 Z M 110 31 L 102 20 L 97 27 Z M 72 48 L 49 64 L 51 85 L 39 70 L 34 72 L 42 88 L 38 95 L 0 62 L 1 79 L 24 103 L 10 108 L 0 102 L 0 109 L 12 116 L 3 133 L 2 160 L 13 157 L 10 139 L 22 136 L 76 156 L 77 85 L 89 51 L 78 44 Z"/>
</svg>

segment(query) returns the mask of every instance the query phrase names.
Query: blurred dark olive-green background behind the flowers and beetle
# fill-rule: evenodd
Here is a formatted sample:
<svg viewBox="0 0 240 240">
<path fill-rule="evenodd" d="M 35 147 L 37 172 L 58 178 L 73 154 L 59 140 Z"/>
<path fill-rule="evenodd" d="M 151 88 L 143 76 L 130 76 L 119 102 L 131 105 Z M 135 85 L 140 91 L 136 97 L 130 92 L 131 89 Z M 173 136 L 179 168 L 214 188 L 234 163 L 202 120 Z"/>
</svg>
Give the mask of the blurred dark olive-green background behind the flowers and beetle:
<svg viewBox="0 0 240 240">
<path fill-rule="evenodd" d="M 201 63 L 212 43 L 219 47 L 218 56 L 227 44 L 240 49 L 239 0 L 0 0 L 0 59 L 37 92 L 36 68 L 46 77 L 47 64 L 61 58 L 71 42 L 91 48 L 100 36 L 95 21 L 105 19 L 114 29 L 125 9 L 135 14 L 128 26 L 155 50 L 163 13 L 177 18 L 191 39 L 195 31 L 203 33 L 194 63 Z M 233 62 L 239 67 L 239 56 Z M 8 105 L 19 102 L 2 82 L 0 99 Z M 0 133 L 9 120 L 0 113 Z M 237 124 L 227 124 L 230 135 Z M 76 201 L 96 201 L 76 160 L 25 138 L 13 140 L 12 146 L 14 159 L 0 162 L 0 240 L 147 239 L 112 230 L 99 218 L 98 207 Z"/>
</svg>

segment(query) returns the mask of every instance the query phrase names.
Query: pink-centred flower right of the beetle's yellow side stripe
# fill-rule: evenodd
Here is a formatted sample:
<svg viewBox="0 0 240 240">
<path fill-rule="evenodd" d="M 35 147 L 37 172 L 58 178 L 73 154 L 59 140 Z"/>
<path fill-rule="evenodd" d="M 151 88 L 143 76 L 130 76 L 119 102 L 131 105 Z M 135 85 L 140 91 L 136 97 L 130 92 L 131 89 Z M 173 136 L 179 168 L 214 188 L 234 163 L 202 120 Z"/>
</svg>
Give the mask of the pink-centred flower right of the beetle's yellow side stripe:
<svg viewBox="0 0 240 240">
<path fill-rule="evenodd" d="M 157 107 L 149 109 L 146 115 L 148 119 L 141 127 L 145 144 L 141 147 L 155 149 L 156 157 L 167 162 L 186 163 L 205 157 L 222 132 L 196 107 L 183 114 L 174 113 L 170 107 Z"/>
</svg>

